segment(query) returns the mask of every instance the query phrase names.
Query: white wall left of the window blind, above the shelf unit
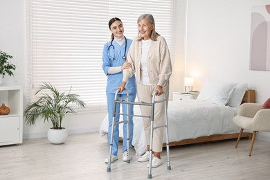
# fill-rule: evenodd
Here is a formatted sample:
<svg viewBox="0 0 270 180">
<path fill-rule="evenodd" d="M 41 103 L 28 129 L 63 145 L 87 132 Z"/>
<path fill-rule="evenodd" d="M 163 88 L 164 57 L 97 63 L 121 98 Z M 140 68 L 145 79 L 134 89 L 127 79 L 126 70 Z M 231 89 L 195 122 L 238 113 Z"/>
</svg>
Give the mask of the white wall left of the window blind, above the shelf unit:
<svg viewBox="0 0 270 180">
<path fill-rule="evenodd" d="M 0 3 L 0 51 L 13 56 L 17 66 L 14 77 L 5 76 L 3 84 L 23 85 L 25 68 L 24 1 L 5 0 Z"/>
</svg>

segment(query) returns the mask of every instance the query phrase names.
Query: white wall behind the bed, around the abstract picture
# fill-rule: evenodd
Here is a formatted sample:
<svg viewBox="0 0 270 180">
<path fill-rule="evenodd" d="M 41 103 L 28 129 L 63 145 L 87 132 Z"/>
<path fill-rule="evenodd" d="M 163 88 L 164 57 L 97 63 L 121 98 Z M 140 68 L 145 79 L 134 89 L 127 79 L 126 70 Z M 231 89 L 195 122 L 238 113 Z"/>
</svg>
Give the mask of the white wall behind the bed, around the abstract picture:
<svg viewBox="0 0 270 180">
<path fill-rule="evenodd" d="M 186 73 L 201 89 L 206 78 L 247 82 L 256 102 L 270 97 L 270 71 L 249 70 L 251 7 L 267 0 L 188 0 Z M 270 141 L 269 133 L 258 138 Z"/>
</svg>

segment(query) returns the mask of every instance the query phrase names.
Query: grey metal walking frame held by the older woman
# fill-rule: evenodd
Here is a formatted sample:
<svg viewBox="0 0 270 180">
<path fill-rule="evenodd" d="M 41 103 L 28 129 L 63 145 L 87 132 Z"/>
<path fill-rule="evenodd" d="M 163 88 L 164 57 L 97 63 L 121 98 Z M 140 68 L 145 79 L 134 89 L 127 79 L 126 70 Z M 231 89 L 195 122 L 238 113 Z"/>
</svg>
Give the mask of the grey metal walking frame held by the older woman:
<svg viewBox="0 0 270 180">
<path fill-rule="evenodd" d="M 138 116 L 138 117 L 143 117 L 143 118 L 150 118 L 151 120 L 151 129 L 150 129 L 150 154 L 149 154 L 149 165 L 148 165 L 148 179 L 152 179 L 152 145 L 153 145 L 153 132 L 154 129 L 160 128 L 160 127 L 165 127 L 165 132 L 166 132 L 166 151 L 167 151 L 167 170 L 171 170 L 170 166 L 170 146 L 169 146 L 169 135 L 168 135 L 168 115 L 167 115 L 167 103 L 166 103 L 166 94 L 164 92 L 164 99 L 163 100 L 155 100 L 156 94 L 159 93 L 159 91 L 155 91 L 152 97 L 152 102 L 129 102 L 129 91 L 128 89 L 125 89 L 127 92 L 127 96 L 122 97 L 122 98 L 117 98 L 118 93 L 120 92 L 120 89 L 117 89 L 115 98 L 114 98 L 114 113 L 113 113 L 113 122 L 112 122 L 112 128 L 111 128 L 111 139 L 109 143 L 109 161 L 108 161 L 108 166 L 107 166 L 107 172 L 111 172 L 111 152 L 112 152 L 112 145 L 113 145 L 113 135 L 114 135 L 114 127 L 120 123 L 127 123 L 127 163 L 130 163 L 130 156 L 129 156 L 129 118 L 131 116 Z M 125 99 L 127 101 L 125 101 Z M 164 112 L 165 112 L 165 124 L 164 125 L 159 125 L 154 127 L 154 105 L 156 103 L 164 103 Z M 116 105 L 117 104 L 127 104 L 127 114 L 120 114 L 116 113 Z M 150 106 L 152 107 L 151 109 L 151 116 L 143 116 L 143 115 L 134 115 L 134 114 L 129 114 L 129 105 L 139 105 L 139 106 Z M 127 120 L 121 120 L 119 122 L 115 122 L 116 114 L 118 115 L 123 115 L 127 116 Z"/>
</svg>

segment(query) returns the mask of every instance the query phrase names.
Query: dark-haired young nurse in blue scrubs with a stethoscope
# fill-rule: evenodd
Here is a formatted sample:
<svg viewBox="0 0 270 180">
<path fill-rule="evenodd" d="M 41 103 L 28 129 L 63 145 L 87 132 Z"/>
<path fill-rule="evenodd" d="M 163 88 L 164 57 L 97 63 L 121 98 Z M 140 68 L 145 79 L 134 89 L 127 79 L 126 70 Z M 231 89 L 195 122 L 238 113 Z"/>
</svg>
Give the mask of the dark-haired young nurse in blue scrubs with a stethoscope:
<svg viewBox="0 0 270 180">
<path fill-rule="evenodd" d="M 114 111 L 114 98 L 116 93 L 116 87 L 121 84 L 123 80 L 123 70 L 131 66 L 130 62 L 126 61 L 126 55 L 129 51 L 129 46 L 132 44 L 131 39 L 127 39 L 124 36 L 124 26 L 122 21 L 114 17 L 109 20 L 109 30 L 111 31 L 111 41 L 107 42 L 103 48 L 102 55 L 102 69 L 107 75 L 107 109 L 109 117 L 109 129 L 108 129 L 108 147 L 111 139 L 111 126 L 113 120 Z M 127 81 L 126 88 L 129 91 L 129 102 L 134 102 L 136 98 L 136 80 L 133 75 Z M 118 94 L 118 98 L 127 96 L 126 91 Z M 123 114 L 133 115 L 133 105 L 129 105 L 129 113 L 127 113 L 127 105 L 121 104 Z M 117 104 L 116 112 L 120 112 L 120 105 Z M 122 115 L 121 115 L 122 116 Z M 129 118 L 129 148 L 132 147 L 133 139 L 133 116 Z M 119 115 L 115 117 L 116 122 L 119 121 Z M 123 117 L 123 120 L 127 120 L 127 116 Z M 116 125 L 114 130 L 114 143 L 111 153 L 111 163 L 118 159 L 118 140 L 119 140 L 119 128 Z M 123 124 L 123 161 L 127 161 L 127 123 Z M 130 157 L 131 159 L 131 157 Z M 105 159 L 105 163 L 108 163 L 109 157 Z"/>
</svg>

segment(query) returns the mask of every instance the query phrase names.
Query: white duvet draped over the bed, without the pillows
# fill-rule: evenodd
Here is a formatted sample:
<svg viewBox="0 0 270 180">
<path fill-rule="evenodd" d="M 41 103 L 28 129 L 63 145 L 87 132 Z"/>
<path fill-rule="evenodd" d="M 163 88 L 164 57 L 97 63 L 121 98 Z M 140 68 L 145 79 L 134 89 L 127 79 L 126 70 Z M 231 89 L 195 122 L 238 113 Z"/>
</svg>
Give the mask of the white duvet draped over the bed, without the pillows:
<svg viewBox="0 0 270 180">
<path fill-rule="evenodd" d="M 169 141 L 181 141 L 186 138 L 197 138 L 212 134 L 231 134 L 239 132 L 233 123 L 237 114 L 234 107 L 215 105 L 201 100 L 170 101 L 168 104 Z M 141 115 L 138 106 L 134 106 L 134 114 Z M 120 117 L 122 120 L 122 117 Z M 107 138 L 108 117 L 100 124 L 100 136 Z M 119 127 L 119 136 L 123 137 L 123 124 Z M 137 155 L 146 151 L 143 119 L 134 116 L 134 132 L 132 145 Z M 164 134 L 165 135 L 165 134 Z M 163 139 L 165 143 L 165 136 Z"/>
</svg>

